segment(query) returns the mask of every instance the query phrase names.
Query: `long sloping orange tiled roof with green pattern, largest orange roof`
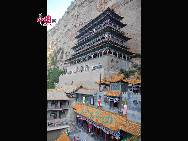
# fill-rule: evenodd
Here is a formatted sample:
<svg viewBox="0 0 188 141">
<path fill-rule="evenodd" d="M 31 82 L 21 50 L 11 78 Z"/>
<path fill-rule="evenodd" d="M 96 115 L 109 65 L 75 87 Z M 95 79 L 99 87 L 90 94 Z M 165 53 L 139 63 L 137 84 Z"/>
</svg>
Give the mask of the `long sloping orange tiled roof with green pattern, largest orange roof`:
<svg viewBox="0 0 188 141">
<path fill-rule="evenodd" d="M 76 113 L 111 130 L 118 131 L 119 129 L 122 129 L 135 136 L 141 135 L 140 124 L 134 123 L 133 121 L 126 119 L 126 117 L 81 103 L 73 105 L 73 108 Z"/>
</svg>

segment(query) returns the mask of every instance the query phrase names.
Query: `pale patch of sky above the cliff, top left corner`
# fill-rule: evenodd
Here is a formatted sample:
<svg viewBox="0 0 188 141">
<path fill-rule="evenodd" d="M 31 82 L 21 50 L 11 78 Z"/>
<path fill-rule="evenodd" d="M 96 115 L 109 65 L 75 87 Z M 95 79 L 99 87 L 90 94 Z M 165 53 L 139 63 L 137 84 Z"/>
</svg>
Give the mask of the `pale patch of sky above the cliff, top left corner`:
<svg viewBox="0 0 188 141">
<path fill-rule="evenodd" d="M 72 1 L 74 0 L 47 0 L 47 14 L 50 15 L 52 19 L 56 19 L 56 23 L 58 23 Z M 53 26 L 55 26 L 54 23 L 52 26 L 47 26 L 47 30 L 51 29 Z"/>
</svg>

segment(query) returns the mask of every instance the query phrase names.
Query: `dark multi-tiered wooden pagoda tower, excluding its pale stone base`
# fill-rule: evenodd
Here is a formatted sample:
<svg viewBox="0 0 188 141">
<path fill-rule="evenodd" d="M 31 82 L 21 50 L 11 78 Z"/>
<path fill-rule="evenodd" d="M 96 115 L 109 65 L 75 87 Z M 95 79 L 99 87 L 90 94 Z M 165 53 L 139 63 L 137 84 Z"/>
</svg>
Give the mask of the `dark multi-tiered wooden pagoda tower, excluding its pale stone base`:
<svg viewBox="0 0 188 141">
<path fill-rule="evenodd" d="M 106 9 L 79 30 L 79 35 L 76 37 L 78 43 L 72 48 L 74 54 L 66 61 L 70 64 L 77 64 L 110 54 L 129 60 L 132 53 L 128 51 L 126 42 L 130 38 L 120 31 L 126 26 L 120 21 L 122 19 L 123 17 L 110 8 Z"/>
</svg>

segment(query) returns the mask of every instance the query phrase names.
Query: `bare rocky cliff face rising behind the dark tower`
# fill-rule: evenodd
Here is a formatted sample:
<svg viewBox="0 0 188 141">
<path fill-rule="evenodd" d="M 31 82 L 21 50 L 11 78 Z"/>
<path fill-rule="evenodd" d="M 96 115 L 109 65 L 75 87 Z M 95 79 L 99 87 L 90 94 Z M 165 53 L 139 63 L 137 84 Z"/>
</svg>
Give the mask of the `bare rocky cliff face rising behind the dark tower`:
<svg viewBox="0 0 188 141">
<path fill-rule="evenodd" d="M 48 55 L 56 54 L 58 66 L 71 55 L 77 31 L 108 7 L 124 17 L 127 26 L 122 31 L 131 38 L 128 47 L 141 53 L 141 0 L 75 0 L 47 34 Z"/>
</svg>

